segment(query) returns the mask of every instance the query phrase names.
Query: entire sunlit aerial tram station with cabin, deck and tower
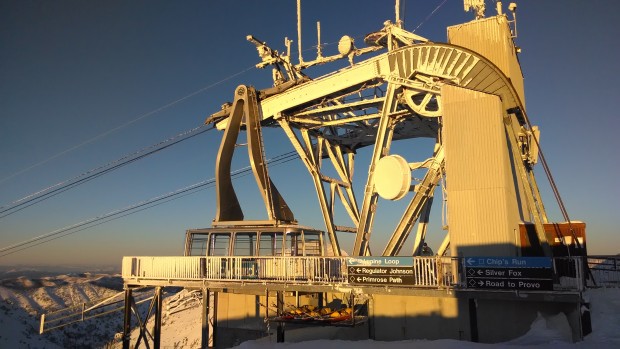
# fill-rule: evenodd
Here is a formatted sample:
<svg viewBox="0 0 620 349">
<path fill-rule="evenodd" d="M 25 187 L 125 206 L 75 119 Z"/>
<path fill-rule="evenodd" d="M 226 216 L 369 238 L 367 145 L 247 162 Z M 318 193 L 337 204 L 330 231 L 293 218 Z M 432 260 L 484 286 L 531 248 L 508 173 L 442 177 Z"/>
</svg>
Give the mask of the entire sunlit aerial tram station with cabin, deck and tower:
<svg viewBox="0 0 620 349">
<path fill-rule="evenodd" d="M 345 327 L 355 339 L 494 343 L 523 335 L 538 313 L 565 314 L 574 341 L 590 332 L 585 224 L 561 200 L 564 220 L 549 221 L 534 176 L 544 172 L 559 199 L 526 109 L 517 6 L 464 3 L 475 19 L 448 27 L 446 42 L 406 31 L 398 1 L 395 19 L 364 42 L 343 36 L 334 55 L 319 44 L 312 60 L 302 57 L 299 2 L 295 59 L 290 40 L 278 52 L 248 35 L 273 86 L 240 85 L 205 120 L 221 131 L 212 133 L 221 143 L 211 226 L 186 231 L 183 256 L 123 258 L 124 348 L 159 347 L 167 288 L 202 295 L 203 347 L 281 342 L 311 326 Z M 316 34 L 320 43 L 320 25 Z M 305 73 L 336 61 L 346 67 Z M 278 191 L 265 127 L 283 132 L 307 169 L 299 181 L 315 192 L 295 194 L 318 205 L 322 226 L 298 222 Z M 430 145 L 428 156 L 407 152 L 415 144 Z M 370 160 L 356 169 L 362 149 Z M 231 177 L 233 155 L 246 153 L 262 220 L 244 218 Z M 404 210 L 380 244 L 373 223 L 394 201 Z M 422 253 L 431 208 L 445 239 Z M 154 325 L 137 311 L 139 289 L 153 294 Z"/>
</svg>

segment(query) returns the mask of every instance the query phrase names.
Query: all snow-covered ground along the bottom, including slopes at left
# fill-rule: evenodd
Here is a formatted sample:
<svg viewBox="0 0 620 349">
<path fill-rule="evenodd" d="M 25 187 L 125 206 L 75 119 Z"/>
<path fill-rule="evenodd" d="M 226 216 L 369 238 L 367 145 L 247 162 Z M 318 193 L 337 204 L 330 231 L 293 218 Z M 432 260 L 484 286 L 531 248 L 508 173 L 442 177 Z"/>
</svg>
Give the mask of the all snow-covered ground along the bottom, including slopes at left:
<svg viewBox="0 0 620 349">
<path fill-rule="evenodd" d="M 118 340 L 114 340 L 114 335 L 122 328 L 120 312 L 54 330 L 42 336 L 38 334 L 40 313 L 112 295 L 122 287 L 122 280 L 118 275 L 32 275 L 34 274 L 11 274 L 0 279 L 0 348 L 103 348 L 107 345 L 120 348 Z M 586 296 L 591 302 L 593 333 L 578 343 L 570 343 L 567 321 L 558 315 L 549 318 L 540 316 L 524 336 L 500 344 L 456 340 L 352 341 L 347 340 L 350 339 L 350 332 L 347 332 L 350 329 L 321 327 L 288 330 L 286 343 L 276 343 L 275 337 L 270 336 L 240 343 L 237 348 L 620 348 L 620 288 L 590 289 Z M 162 347 L 198 347 L 201 326 L 201 306 L 198 298 L 191 294 L 183 298 L 170 294 L 164 301 L 164 310 Z M 137 338 L 136 330 L 132 333 L 132 339 Z"/>
</svg>

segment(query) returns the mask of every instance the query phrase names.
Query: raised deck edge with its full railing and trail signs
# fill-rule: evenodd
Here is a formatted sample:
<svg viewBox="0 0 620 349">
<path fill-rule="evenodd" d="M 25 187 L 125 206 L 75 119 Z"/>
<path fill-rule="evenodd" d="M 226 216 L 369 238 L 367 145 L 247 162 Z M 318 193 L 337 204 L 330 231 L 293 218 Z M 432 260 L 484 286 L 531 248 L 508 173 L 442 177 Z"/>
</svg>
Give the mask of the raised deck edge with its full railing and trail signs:
<svg viewBox="0 0 620 349">
<path fill-rule="evenodd" d="M 388 263 L 405 260 L 406 265 L 364 265 L 364 259 L 372 258 Z M 515 258 L 527 260 L 527 257 Z M 584 289 L 582 257 L 552 258 L 549 273 L 545 275 L 532 274 L 545 268 L 511 269 L 509 266 L 487 267 L 495 274 L 480 275 L 487 271 L 480 265 L 468 266 L 471 260 L 471 257 L 129 256 L 123 258 L 122 277 L 126 287 L 208 288 L 248 294 L 268 290 L 454 297 L 475 292 L 476 297 L 492 294 L 512 298 L 527 293 L 533 298 L 540 295 L 566 301 Z M 509 275 L 509 270 L 521 270 L 519 273 L 526 274 L 523 281 L 528 285 L 523 283 L 519 289 L 503 284 L 503 281 L 519 281 L 520 276 Z"/>
</svg>

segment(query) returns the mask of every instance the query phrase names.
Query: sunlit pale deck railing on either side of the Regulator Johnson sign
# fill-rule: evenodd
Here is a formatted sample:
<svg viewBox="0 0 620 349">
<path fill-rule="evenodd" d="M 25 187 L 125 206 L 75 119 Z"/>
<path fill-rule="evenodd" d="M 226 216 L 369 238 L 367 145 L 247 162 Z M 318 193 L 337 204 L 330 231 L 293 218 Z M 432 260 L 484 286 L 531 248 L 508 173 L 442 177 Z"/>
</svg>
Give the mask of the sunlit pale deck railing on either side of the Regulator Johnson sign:
<svg viewBox="0 0 620 349">
<path fill-rule="evenodd" d="M 349 284 L 349 257 L 123 257 L 123 279 Z M 413 258 L 413 287 L 457 283 L 458 260 Z M 411 285 L 408 285 L 411 286 Z"/>
</svg>

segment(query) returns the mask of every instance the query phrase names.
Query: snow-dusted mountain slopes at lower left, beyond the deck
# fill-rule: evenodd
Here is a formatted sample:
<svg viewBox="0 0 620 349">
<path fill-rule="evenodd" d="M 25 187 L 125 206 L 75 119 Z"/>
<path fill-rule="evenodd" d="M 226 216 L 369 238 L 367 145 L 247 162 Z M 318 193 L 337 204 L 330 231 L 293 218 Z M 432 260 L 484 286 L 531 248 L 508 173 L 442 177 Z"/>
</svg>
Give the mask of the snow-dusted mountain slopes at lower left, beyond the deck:
<svg viewBox="0 0 620 349">
<path fill-rule="evenodd" d="M 121 331 L 122 312 L 118 312 L 39 335 L 42 313 L 110 297 L 123 289 L 120 275 L 42 273 L 35 268 L 11 269 L 0 279 L 0 348 L 103 347 Z"/>
</svg>

